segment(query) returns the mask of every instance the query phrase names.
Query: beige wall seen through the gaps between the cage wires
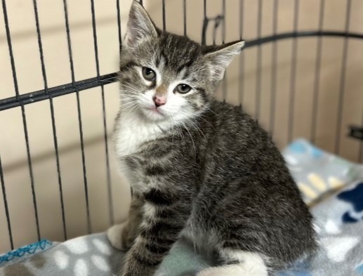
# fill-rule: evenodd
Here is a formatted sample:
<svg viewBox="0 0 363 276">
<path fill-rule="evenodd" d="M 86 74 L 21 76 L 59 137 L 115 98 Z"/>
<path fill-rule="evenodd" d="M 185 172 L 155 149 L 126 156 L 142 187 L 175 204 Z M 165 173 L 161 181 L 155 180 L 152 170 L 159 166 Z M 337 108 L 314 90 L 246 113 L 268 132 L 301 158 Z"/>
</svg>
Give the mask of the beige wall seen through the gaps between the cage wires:
<svg viewBox="0 0 363 276">
<path fill-rule="evenodd" d="M 70 19 L 72 51 L 77 80 L 95 76 L 95 58 L 91 26 L 91 6 L 88 0 L 67 1 Z M 144 1 L 152 18 L 162 26 L 161 0 Z M 222 11 L 222 1 L 207 1 L 207 15 L 218 15 Z M 131 1 L 121 1 L 123 29 Z M 258 1 L 244 0 L 244 39 L 257 37 Z M 319 6 L 316 0 L 300 1 L 298 29 L 317 29 Z M 29 93 L 44 88 L 37 33 L 35 29 L 32 1 L 6 1 L 9 24 L 15 55 L 20 93 Z M 239 39 L 239 1 L 226 1 L 225 41 Z M 324 29 L 343 30 L 345 20 L 345 0 L 326 1 Z M 48 86 L 58 86 L 71 81 L 70 63 L 67 52 L 62 1 L 39 0 L 39 20 L 44 46 L 44 58 Z M 262 35 L 272 34 L 273 1 L 263 1 Z M 107 74 L 117 71 L 118 37 L 117 10 L 114 0 L 95 0 L 97 18 L 100 72 Z M 350 31 L 363 32 L 363 2 L 352 1 Z M 187 34 L 200 41 L 202 32 L 203 1 L 187 0 Z M 11 64 L 4 28 L 2 7 L 0 12 L 0 98 L 14 96 Z M 171 32 L 183 33 L 183 1 L 166 1 L 166 27 Z M 278 32 L 293 29 L 293 1 L 279 0 Z M 221 41 L 221 32 L 218 40 Z M 211 29 L 207 42 L 211 43 Z M 289 141 L 289 97 L 291 81 L 292 41 L 277 43 L 277 91 L 275 120 L 270 118 L 272 44 L 261 46 L 262 67 L 260 71 L 260 123 L 269 129 L 273 123 L 274 138 L 279 147 Z M 348 43 L 348 66 L 345 79 L 343 101 L 343 124 L 341 155 L 353 161 L 359 159 L 359 143 L 346 138 L 348 124 L 362 124 L 363 93 L 363 41 L 351 39 Z M 310 138 L 312 124 L 313 87 L 315 81 L 316 38 L 298 39 L 296 63 L 296 96 L 293 102 L 292 138 Z M 326 150 L 334 151 L 336 138 L 336 116 L 341 76 L 343 39 L 322 39 L 322 70 L 319 79 L 316 143 Z M 227 100 L 238 104 L 243 89 L 245 109 L 256 114 L 256 60 L 258 48 L 248 48 L 244 55 L 232 63 L 227 72 Z M 244 64 L 241 74 L 240 65 Z M 240 84 L 242 83 L 242 86 Z M 107 110 L 107 131 L 110 135 L 112 122 L 118 108 L 117 84 L 105 86 Z M 218 97 L 221 97 L 221 91 Z M 77 98 L 75 94 L 55 98 L 55 123 L 60 150 L 60 171 L 65 200 L 65 217 L 68 237 L 86 233 L 86 204 L 84 199 L 84 175 L 79 146 L 79 123 Z M 100 88 L 81 91 L 80 105 L 85 141 L 86 176 L 89 188 L 91 225 L 93 232 L 103 231 L 110 225 L 109 199 L 107 197 L 107 176 L 105 166 L 105 143 L 103 140 L 103 112 Z M 53 133 L 51 128 L 50 103 L 25 106 L 28 124 L 30 154 L 34 172 L 34 185 L 39 209 L 41 237 L 62 240 L 62 220 L 60 211 L 58 174 L 55 164 Z M 27 155 L 19 107 L 0 112 L 0 155 L 3 163 L 11 226 L 15 247 L 37 239 L 34 223 L 34 209 L 27 167 Z M 112 144 L 110 166 L 112 176 L 112 202 L 114 220 L 125 218 L 129 204 L 129 188 L 114 162 Z M 3 198 L 0 197 L 0 252 L 9 249 L 6 216 Z"/>
</svg>

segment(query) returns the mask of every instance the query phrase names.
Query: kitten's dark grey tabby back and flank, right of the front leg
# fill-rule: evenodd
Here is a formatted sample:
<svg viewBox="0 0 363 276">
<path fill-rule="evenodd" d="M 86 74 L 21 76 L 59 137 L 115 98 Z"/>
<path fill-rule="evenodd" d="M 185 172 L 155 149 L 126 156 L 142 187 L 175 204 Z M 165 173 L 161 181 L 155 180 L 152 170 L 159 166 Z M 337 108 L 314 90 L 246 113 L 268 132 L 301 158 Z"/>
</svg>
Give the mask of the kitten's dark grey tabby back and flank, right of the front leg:
<svg viewBox="0 0 363 276">
<path fill-rule="evenodd" d="M 274 268 L 315 251 L 312 216 L 268 133 L 237 107 L 215 101 L 211 110 L 192 228 L 218 233 L 219 247 L 273 256 Z"/>
</svg>

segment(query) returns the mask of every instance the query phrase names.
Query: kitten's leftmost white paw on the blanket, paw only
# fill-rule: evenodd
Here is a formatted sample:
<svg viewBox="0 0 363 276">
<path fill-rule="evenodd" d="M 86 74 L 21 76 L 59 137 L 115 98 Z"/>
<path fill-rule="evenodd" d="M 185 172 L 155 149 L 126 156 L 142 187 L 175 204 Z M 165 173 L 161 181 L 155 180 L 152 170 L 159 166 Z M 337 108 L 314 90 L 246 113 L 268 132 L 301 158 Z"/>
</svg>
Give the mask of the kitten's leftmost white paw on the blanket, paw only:
<svg viewBox="0 0 363 276">
<path fill-rule="evenodd" d="M 133 241 L 128 239 L 127 221 L 117 225 L 113 225 L 107 230 L 107 238 L 112 247 L 122 251 L 127 251 L 131 248 Z"/>
</svg>

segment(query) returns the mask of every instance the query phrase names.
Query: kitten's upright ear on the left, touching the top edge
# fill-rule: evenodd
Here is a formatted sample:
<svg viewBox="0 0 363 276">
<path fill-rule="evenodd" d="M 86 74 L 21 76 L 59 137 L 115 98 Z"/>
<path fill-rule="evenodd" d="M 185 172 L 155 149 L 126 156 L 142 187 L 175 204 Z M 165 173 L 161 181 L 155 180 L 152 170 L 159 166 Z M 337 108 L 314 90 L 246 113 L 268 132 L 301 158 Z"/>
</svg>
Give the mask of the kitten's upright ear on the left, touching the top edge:
<svg viewBox="0 0 363 276">
<path fill-rule="evenodd" d="M 147 37 L 157 37 L 157 29 L 145 8 L 138 1 L 133 1 L 128 15 L 124 44 L 133 46 Z"/>
</svg>

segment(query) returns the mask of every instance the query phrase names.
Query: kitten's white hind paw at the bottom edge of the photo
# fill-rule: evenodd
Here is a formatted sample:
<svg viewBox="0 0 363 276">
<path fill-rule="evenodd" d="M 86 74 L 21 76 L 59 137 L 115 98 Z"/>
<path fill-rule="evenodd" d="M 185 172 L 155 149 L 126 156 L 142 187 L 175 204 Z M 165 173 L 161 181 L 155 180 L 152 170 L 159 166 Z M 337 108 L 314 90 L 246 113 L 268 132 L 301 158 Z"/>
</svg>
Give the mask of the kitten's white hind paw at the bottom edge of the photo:
<svg viewBox="0 0 363 276">
<path fill-rule="evenodd" d="M 268 267 L 262 256 L 258 253 L 221 249 L 221 265 L 215 268 L 206 268 L 197 276 L 268 276 Z"/>
</svg>

